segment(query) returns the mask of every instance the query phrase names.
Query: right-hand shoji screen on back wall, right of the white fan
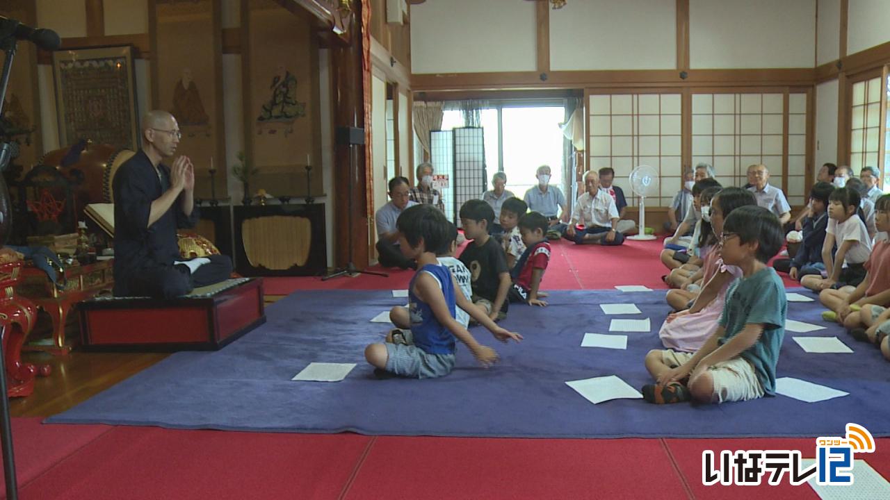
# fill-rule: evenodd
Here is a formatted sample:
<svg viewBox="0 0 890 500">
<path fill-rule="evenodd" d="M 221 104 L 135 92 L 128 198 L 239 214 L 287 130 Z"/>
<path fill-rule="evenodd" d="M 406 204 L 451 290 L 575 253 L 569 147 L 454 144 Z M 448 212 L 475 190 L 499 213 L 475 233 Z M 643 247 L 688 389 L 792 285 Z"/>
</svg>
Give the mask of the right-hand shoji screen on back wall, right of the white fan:
<svg viewBox="0 0 890 500">
<path fill-rule="evenodd" d="M 790 93 L 788 149 L 783 93 L 693 93 L 692 165 L 714 165 L 724 186 L 744 186 L 748 165 L 764 164 L 791 205 L 805 203 L 806 94 Z M 782 179 L 788 157 L 788 185 Z"/>
</svg>

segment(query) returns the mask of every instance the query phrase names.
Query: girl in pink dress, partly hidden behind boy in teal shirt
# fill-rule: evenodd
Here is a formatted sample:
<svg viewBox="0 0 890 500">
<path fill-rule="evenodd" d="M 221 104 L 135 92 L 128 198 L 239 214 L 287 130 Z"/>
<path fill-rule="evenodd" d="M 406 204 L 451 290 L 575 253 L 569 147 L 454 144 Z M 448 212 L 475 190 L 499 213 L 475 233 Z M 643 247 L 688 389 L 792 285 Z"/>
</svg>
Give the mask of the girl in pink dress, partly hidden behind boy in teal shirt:
<svg viewBox="0 0 890 500">
<path fill-rule="evenodd" d="M 710 189 L 712 188 L 708 188 Z M 702 193 L 702 197 L 706 193 L 707 190 Z M 705 285 L 699 294 L 690 294 L 685 290 L 667 292 L 667 303 L 674 309 L 685 309 L 667 315 L 659 330 L 661 343 L 667 349 L 675 351 L 695 352 L 716 331 L 717 319 L 720 319 L 720 313 L 723 312 L 726 290 L 732 281 L 741 277 L 739 267 L 724 265 L 721 260 L 716 248 L 717 235 L 723 231 L 724 220 L 733 210 L 740 206 L 757 204 L 750 191 L 740 188 L 726 188 L 714 196 L 708 195 L 708 198 L 713 198 L 709 211 L 703 210 L 701 213 L 702 228 L 708 230 L 708 239 L 702 245 L 711 247 L 701 269 L 701 278 Z M 692 301 L 692 305 L 687 306 L 688 301 Z M 678 302 L 683 302 L 682 306 Z"/>
</svg>

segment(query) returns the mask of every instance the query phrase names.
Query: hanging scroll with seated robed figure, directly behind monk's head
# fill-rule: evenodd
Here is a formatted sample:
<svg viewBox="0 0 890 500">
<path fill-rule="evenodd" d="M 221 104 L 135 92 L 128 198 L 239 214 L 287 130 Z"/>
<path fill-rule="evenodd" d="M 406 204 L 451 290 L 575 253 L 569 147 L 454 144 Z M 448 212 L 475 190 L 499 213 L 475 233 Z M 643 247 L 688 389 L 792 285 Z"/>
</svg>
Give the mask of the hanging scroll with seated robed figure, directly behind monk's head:
<svg viewBox="0 0 890 500">
<path fill-rule="evenodd" d="M 149 1 L 151 101 L 176 118 L 202 199 L 227 196 L 221 23 L 220 0 Z"/>
</svg>

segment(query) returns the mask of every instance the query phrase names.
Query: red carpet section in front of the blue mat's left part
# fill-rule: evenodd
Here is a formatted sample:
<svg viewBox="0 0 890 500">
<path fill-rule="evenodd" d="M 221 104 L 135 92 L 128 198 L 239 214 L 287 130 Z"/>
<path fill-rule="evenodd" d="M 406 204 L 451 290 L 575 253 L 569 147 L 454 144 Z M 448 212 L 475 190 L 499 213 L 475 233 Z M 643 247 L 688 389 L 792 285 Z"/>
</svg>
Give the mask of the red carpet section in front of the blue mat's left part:
<svg viewBox="0 0 890 500">
<path fill-rule="evenodd" d="M 20 480 L 20 498 L 336 498 L 370 441 L 115 427 L 36 479 Z"/>
</svg>

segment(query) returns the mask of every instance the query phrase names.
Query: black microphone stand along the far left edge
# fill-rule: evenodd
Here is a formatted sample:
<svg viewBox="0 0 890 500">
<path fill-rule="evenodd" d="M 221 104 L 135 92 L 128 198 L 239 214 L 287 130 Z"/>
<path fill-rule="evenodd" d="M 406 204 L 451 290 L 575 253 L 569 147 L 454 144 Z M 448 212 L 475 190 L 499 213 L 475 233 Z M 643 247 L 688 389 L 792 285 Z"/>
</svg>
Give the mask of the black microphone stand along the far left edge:
<svg viewBox="0 0 890 500">
<path fill-rule="evenodd" d="M 16 39 L 15 28 L 18 28 L 19 22 L 13 20 L 0 20 L 0 50 L 6 52 L 3 64 L 3 73 L 0 74 L 0 118 L 4 116 L 4 101 L 6 99 L 6 87 L 9 85 L 9 74 L 12 70 L 12 59 L 15 57 Z M 2 123 L 0 123 L 2 126 Z M 5 136 L 5 131 L 0 130 L 0 137 Z M 12 146 L 9 142 L 0 142 L 0 172 L 6 169 L 6 165 L 12 159 Z M 3 177 L 0 176 L 0 197 L 9 198 L 6 191 L 6 184 Z M 8 202 L 8 199 L 7 199 Z M 9 206 L 8 203 L 0 204 L 0 206 Z M 0 213 L 0 246 L 6 243 L 7 231 L 2 226 L 10 221 L 12 214 Z M 12 227 L 12 225 L 8 226 Z M 0 395 L 0 445 L 3 446 L 3 473 L 6 481 L 6 498 L 10 500 L 18 500 L 19 498 L 19 480 L 15 475 L 15 456 L 12 451 L 12 423 L 9 415 L 9 396 L 6 393 L 6 365 L 3 344 L 8 327 L 0 328 L 0 389 L 3 394 Z"/>
</svg>

